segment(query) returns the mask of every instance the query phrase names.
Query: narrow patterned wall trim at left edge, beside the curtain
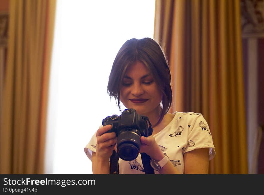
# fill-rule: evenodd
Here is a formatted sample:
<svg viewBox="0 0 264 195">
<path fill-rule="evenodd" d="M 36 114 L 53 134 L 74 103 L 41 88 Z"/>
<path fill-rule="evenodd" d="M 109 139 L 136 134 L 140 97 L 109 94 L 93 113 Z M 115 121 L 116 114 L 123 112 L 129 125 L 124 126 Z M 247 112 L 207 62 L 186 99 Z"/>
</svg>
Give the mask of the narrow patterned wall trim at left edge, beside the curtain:
<svg viewBox="0 0 264 195">
<path fill-rule="evenodd" d="M 7 47 L 8 12 L 0 12 L 0 47 Z"/>
</svg>

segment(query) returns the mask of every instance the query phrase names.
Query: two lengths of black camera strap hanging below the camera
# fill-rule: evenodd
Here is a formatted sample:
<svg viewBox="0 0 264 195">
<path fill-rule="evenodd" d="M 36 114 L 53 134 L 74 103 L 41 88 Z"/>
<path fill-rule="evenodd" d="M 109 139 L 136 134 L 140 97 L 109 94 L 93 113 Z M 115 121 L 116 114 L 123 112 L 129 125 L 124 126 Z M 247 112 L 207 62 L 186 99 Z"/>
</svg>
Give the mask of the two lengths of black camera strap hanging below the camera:
<svg viewBox="0 0 264 195">
<path fill-rule="evenodd" d="M 150 166 L 150 156 L 146 153 L 140 153 L 145 174 L 155 174 L 154 169 Z M 110 174 L 119 174 L 119 156 L 115 150 L 110 157 Z"/>
</svg>

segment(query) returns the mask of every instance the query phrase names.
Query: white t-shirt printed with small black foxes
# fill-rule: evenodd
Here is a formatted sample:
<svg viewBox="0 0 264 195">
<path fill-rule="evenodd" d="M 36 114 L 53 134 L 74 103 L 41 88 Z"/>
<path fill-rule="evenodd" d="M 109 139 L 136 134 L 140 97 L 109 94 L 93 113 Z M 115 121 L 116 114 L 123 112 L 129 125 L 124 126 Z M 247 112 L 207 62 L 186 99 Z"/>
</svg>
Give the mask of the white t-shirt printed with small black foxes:
<svg viewBox="0 0 264 195">
<path fill-rule="evenodd" d="M 183 155 L 185 152 L 199 148 L 209 148 L 209 160 L 215 155 L 213 139 L 209 126 L 202 116 L 193 112 L 175 112 L 173 120 L 159 133 L 155 134 L 156 142 L 178 169 L 184 172 Z M 95 133 L 96 134 L 96 133 Z M 96 152 L 96 135 L 84 148 L 87 157 L 91 160 L 92 152 Z M 119 159 L 120 174 L 145 174 L 139 154 L 135 160 Z M 155 171 L 155 174 L 158 174 Z"/>
</svg>

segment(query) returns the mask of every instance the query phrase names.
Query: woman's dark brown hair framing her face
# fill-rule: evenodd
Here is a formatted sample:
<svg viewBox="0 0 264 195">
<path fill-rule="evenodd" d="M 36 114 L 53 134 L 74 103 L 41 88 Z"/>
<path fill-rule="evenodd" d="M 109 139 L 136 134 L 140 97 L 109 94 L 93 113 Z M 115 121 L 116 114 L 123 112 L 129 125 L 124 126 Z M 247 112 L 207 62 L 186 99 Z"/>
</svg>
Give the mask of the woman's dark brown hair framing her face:
<svg viewBox="0 0 264 195">
<path fill-rule="evenodd" d="M 135 62 L 143 63 L 153 75 L 154 81 L 162 92 L 161 113 L 158 125 L 164 115 L 169 111 L 172 103 L 171 75 L 168 61 L 161 46 L 152 38 L 136 39 L 132 38 L 126 41 L 118 51 L 113 62 L 112 70 L 109 76 L 107 92 L 110 97 L 114 97 L 120 108 L 120 89 L 122 79 L 127 67 Z"/>
</svg>

